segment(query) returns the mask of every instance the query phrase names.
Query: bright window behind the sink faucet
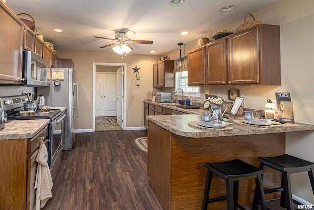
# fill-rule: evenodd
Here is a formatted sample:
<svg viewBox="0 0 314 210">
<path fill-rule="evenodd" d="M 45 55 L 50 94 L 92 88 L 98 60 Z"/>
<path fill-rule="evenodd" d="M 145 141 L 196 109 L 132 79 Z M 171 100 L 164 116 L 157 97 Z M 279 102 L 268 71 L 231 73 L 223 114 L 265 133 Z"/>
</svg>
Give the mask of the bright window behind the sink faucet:
<svg viewBox="0 0 314 210">
<path fill-rule="evenodd" d="M 176 90 L 182 88 L 184 96 L 200 97 L 200 87 L 187 86 L 187 71 L 176 72 Z M 177 91 L 176 95 L 182 95 Z"/>
</svg>

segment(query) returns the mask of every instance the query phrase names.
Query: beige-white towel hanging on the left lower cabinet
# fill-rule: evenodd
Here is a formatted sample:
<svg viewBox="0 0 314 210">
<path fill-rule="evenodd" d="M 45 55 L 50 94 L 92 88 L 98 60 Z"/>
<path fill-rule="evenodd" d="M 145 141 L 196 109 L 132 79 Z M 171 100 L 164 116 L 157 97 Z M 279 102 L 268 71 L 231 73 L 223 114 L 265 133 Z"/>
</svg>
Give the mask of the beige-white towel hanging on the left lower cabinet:
<svg viewBox="0 0 314 210">
<path fill-rule="evenodd" d="M 52 197 L 51 189 L 53 186 L 52 178 L 48 166 L 48 151 L 43 139 L 36 157 L 37 174 L 34 189 L 36 190 L 36 210 L 40 210 L 46 202 Z"/>
</svg>

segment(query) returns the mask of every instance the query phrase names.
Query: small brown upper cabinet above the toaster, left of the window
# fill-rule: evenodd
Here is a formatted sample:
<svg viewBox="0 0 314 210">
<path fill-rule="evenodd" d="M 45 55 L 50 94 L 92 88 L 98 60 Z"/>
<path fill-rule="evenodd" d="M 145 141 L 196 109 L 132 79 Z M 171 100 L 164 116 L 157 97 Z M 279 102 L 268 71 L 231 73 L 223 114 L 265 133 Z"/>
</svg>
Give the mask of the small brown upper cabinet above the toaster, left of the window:
<svg viewBox="0 0 314 210">
<path fill-rule="evenodd" d="M 173 66 L 174 60 L 162 60 L 153 64 L 153 87 L 174 87 L 175 80 Z"/>
</svg>

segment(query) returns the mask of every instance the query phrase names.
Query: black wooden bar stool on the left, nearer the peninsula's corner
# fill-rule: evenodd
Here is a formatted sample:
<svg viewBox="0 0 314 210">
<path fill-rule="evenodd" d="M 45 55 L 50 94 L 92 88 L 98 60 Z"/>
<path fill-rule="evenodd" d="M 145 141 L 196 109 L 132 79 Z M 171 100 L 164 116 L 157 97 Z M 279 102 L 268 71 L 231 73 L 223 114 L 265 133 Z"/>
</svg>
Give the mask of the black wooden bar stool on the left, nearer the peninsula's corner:
<svg viewBox="0 0 314 210">
<path fill-rule="evenodd" d="M 262 169 L 252 166 L 239 159 L 219 163 L 205 163 L 205 167 L 208 169 L 208 171 L 204 189 L 202 210 L 207 210 L 209 203 L 223 200 L 227 200 L 227 210 L 236 210 L 237 208 L 245 210 L 241 205 L 238 204 L 239 181 L 250 179 L 255 179 L 256 196 L 258 197 L 259 201 L 262 201 L 260 202 L 261 209 L 267 210 L 265 195 L 262 188 Z M 226 196 L 209 199 L 209 191 L 213 173 L 226 181 Z"/>
</svg>

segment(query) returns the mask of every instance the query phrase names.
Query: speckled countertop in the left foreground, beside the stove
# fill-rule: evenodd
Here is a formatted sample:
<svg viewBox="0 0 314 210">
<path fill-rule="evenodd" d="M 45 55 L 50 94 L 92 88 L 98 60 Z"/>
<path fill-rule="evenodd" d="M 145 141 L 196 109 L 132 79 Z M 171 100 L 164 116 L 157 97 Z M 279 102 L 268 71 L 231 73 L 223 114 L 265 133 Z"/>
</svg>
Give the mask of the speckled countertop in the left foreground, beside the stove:
<svg viewBox="0 0 314 210">
<path fill-rule="evenodd" d="M 50 123 L 50 119 L 8 120 L 0 131 L 0 140 L 31 139 Z"/>
</svg>

